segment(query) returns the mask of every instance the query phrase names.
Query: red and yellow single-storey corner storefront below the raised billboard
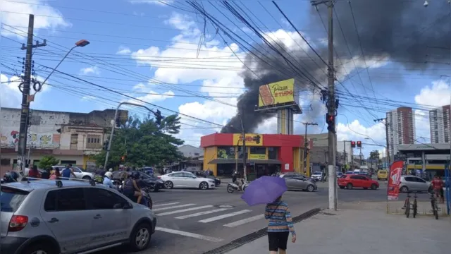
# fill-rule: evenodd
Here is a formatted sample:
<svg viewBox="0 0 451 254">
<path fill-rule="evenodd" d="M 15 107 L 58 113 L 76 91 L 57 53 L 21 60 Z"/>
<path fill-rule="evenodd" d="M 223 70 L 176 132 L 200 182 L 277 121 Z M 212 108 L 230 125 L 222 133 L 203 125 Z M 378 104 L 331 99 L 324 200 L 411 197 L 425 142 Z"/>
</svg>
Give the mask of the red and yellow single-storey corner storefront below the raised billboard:
<svg viewBox="0 0 451 254">
<path fill-rule="evenodd" d="M 243 157 L 246 155 L 249 180 L 274 171 L 309 174 L 309 170 L 304 172 L 302 135 L 246 133 L 245 138 L 246 153 L 243 152 L 242 134 L 213 133 L 203 136 L 204 170 L 210 169 L 216 176 L 228 176 L 235 170 L 242 171 Z"/>
</svg>

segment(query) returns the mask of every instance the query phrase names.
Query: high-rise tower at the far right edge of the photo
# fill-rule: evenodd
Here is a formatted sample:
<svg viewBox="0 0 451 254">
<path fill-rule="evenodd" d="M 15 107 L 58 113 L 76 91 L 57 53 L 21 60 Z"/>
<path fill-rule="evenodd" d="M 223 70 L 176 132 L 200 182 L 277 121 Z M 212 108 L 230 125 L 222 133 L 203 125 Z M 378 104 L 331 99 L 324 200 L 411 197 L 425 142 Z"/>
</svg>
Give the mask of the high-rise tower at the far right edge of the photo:
<svg viewBox="0 0 451 254">
<path fill-rule="evenodd" d="M 429 111 L 431 143 L 450 143 L 450 105 Z"/>
</svg>

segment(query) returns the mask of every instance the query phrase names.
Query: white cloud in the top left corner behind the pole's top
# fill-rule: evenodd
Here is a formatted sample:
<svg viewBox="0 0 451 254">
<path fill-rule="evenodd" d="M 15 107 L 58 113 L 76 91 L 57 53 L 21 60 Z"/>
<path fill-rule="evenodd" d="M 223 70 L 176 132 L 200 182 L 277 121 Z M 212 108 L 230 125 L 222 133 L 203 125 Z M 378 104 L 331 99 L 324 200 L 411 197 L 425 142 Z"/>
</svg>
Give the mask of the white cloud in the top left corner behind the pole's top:
<svg viewBox="0 0 451 254">
<path fill-rule="evenodd" d="M 39 28 L 56 29 L 71 26 L 70 23 L 63 19 L 61 12 L 49 6 L 47 1 L 28 0 L 25 3 L 18 3 L 0 0 L 0 6 L 2 11 L 1 22 L 6 24 L 4 25 L 5 29 L 1 31 L 1 35 L 4 36 L 18 37 L 20 40 L 25 40 L 23 35 L 26 36 L 28 13 L 35 14 L 35 30 Z M 10 28 L 7 25 L 11 25 L 17 29 Z"/>
</svg>

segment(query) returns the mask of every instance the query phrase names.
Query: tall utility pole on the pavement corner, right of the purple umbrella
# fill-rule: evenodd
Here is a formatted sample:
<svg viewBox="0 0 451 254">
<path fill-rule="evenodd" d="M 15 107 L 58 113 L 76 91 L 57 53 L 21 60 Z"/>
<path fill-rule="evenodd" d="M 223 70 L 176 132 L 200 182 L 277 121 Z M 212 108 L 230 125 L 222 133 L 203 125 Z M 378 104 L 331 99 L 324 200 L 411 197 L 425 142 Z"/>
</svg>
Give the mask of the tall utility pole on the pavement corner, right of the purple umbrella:
<svg viewBox="0 0 451 254">
<path fill-rule="evenodd" d="M 328 121 L 328 150 L 329 150 L 329 164 L 328 164 L 328 187 L 329 187 L 329 209 L 337 210 L 337 174 L 335 172 L 335 116 L 337 111 L 335 109 L 335 70 L 333 66 L 333 0 L 311 0 L 311 4 L 317 7 L 319 4 L 325 4 L 328 7 L 328 114 L 326 119 Z"/>
</svg>

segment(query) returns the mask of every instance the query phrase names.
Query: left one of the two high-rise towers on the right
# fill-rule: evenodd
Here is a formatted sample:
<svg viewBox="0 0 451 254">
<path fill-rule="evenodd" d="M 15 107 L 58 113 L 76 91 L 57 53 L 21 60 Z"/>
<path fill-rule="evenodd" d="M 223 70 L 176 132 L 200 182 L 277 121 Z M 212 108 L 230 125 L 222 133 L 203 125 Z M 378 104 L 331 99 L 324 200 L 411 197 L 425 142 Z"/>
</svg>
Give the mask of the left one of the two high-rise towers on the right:
<svg viewBox="0 0 451 254">
<path fill-rule="evenodd" d="M 400 145 L 414 143 L 415 116 L 412 108 L 399 107 L 387 112 L 387 124 L 390 156 L 397 153 Z"/>
</svg>

